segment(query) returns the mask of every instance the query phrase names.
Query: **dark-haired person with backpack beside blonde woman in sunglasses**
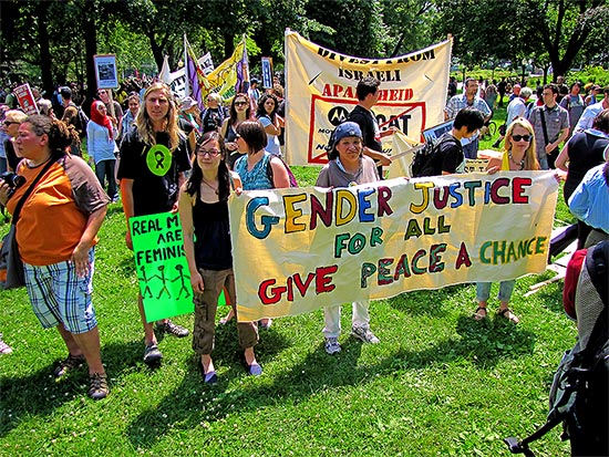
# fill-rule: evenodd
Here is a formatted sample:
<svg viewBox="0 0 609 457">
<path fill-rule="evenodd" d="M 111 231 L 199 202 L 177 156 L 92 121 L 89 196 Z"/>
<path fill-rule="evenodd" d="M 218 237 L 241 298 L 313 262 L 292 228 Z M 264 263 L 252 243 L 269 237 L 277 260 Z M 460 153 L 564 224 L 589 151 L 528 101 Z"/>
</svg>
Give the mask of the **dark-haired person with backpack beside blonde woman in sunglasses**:
<svg viewBox="0 0 609 457">
<path fill-rule="evenodd" d="M 484 115 L 476 108 L 461 110 L 451 132 L 416 153 L 412 164 L 412 176 L 440 176 L 464 173 L 465 155 L 461 141 L 477 134 L 484 125 Z"/>
</svg>

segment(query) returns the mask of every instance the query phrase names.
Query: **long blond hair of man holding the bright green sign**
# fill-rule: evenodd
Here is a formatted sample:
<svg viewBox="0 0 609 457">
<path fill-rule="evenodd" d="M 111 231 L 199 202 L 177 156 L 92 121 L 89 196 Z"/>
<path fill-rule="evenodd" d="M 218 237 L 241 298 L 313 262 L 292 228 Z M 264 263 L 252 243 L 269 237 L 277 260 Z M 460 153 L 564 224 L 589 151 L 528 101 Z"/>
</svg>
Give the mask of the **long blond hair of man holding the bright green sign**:
<svg viewBox="0 0 609 457">
<path fill-rule="evenodd" d="M 135 117 L 137 134 L 147 145 L 154 146 L 156 144 L 156 132 L 154 131 L 148 111 L 145 106 L 146 98 L 152 92 L 162 92 L 163 95 L 167 97 L 168 110 L 167 115 L 165 116 L 165 125 L 163 131 L 169 135 L 169 150 L 174 152 L 179 145 L 180 137 L 185 137 L 185 134 L 182 132 L 177 123 L 177 110 L 172 90 L 165 83 L 157 82 L 146 89 L 146 92 L 144 93 L 144 106 L 140 108 L 137 116 Z"/>
</svg>

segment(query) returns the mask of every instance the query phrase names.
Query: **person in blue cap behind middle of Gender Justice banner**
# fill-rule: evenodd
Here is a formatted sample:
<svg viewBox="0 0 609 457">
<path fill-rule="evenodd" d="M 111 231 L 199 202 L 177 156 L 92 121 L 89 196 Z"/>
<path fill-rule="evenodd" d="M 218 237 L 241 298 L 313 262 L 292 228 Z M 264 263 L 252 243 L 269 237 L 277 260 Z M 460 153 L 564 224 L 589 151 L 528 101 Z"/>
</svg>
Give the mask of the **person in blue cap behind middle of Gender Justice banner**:
<svg viewBox="0 0 609 457">
<path fill-rule="evenodd" d="M 328 153 L 329 163 L 321 169 L 316 186 L 349 187 L 379 180 L 379 172 L 374 160 L 363 155 L 363 138 L 360 126 L 354 122 L 340 124 L 333 133 L 334 143 Z M 354 301 L 351 334 L 364 343 L 379 343 L 379 339 L 370 330 L 368 300 Z M 323 335 L 326 352 L 336 354 L 341 351 L 340 304 L 323 309 Z"/>
</svg>

